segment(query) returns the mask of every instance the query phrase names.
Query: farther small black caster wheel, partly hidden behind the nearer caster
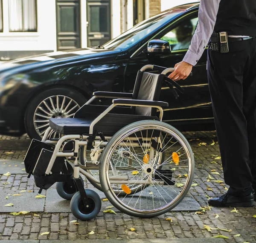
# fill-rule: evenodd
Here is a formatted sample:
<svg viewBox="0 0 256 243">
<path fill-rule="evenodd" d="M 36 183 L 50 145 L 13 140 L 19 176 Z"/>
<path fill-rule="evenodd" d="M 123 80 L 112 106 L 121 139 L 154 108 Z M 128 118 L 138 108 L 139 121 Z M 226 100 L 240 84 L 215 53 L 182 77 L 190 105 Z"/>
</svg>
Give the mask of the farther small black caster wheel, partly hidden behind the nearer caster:
<svg viewBox="0 0 256 243">
<path fill-rule="evenodd" d="M 82 179 L 81 176 L 80 176 L 80 180 L 84 184 L 84 180 Z M 59 196 L 66 200 L 71 200 L 73 195 L 77 192 L 73 178 L 71 178 L 71 180 L 69 181 L 57 182 L 56 190 Z"/>
</svg>

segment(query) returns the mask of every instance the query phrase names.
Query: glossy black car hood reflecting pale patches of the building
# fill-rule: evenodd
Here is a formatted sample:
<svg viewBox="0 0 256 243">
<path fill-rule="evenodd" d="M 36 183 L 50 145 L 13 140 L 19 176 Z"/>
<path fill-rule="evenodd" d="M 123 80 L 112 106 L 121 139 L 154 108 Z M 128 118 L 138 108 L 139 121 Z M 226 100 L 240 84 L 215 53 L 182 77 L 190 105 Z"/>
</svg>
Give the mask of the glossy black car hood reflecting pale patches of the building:
<svg viewBox="0 0 256 243">
<path fill-rule="evenodd" d="M 87 60 L 91 58 L 98 57 L 109 57 L 116 55 L 121 50 L 108 50 L 108 49 L 94 49 L 94 48 L 84 48 L 84 49 L 73 49 L 68 51 L 55 51 L 45 54 L 40 54 L 31 57 L 24 57 L 15 59 L 12 61 L 4 62 L 0 64 L 0 71 L 26 71 L 28 69 L 35 69 L 37 67 L 42 67 L 44 65 L 55 65 L 56 62 L 68 63 L 75 60 Z"/>
</svg>

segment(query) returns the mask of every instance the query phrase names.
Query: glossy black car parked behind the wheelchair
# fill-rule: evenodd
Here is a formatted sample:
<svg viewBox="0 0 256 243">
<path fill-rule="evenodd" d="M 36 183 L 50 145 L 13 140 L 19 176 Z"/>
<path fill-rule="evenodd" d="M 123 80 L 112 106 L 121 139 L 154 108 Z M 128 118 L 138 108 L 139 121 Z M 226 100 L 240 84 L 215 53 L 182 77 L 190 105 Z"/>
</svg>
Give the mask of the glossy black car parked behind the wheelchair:
<svg viewBox="0 0 256 243">
<path fill-rule="evenodd" d="M 16 59 L 0 66 L 0 134 L 28 133 L 40 139 L 50 117 L 72 117 L 94 91 L 132 92 L 137 71 L 146 64 L 173 67 L 180 62 L 198 23 L 198 3 L 164 11 L 103 46 Z M 149 40 L 169 41 L 171 54 L 149 54 Z M 164 87 L 169 103 L 163 121 L 182 131 L 213 130 L 207 50 L 193 76 L 178 83 L 178 99 Z M 99 103 L 106 103 L 99 100 Z"/>
</svg>

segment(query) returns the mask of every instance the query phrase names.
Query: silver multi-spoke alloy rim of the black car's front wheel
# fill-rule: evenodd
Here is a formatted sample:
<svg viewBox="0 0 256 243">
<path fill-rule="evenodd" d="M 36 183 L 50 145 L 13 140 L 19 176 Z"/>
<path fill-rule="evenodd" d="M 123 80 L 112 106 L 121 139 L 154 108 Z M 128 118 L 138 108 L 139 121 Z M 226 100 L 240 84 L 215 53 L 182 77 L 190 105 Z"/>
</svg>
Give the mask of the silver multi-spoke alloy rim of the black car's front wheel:
<svg viewBox="0 0 256 243">
<path fill-rule="evenodd" d="M 42 100 L 34 113 L 33 123 L 36 132 L 40 137 L 44 136 L 49 127 L 50 118 L 69 118 L 73 117 L 80 108 L 79 104 L 72 98 L 65 95 L 52 95 Z M 53 130 L 49 133 L 52 138 L 58 139 L 60 135 Z"/>
</svg>

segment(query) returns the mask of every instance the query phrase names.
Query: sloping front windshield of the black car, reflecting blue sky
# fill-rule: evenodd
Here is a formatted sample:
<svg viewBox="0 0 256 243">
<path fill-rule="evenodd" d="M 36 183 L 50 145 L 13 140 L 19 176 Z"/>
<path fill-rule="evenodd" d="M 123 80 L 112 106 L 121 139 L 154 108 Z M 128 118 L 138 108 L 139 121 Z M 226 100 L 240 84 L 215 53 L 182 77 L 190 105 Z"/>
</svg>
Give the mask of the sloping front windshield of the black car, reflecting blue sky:
<svg viewBox="0 0 256 243">
<path fill-rule="evenodd" d="M 120 34 L 118 37 L 105 43 L 103 47 L 105 49 L 125 49 L 129 46 L 133 46 L 140 40 L 147 37 L 149 34 L 154 32 L 159 26 L 169 22 L 172 17 L 180 14 L 182 11 L 166 11 L 144 20 L 133 28 Z"/>
</svg>

